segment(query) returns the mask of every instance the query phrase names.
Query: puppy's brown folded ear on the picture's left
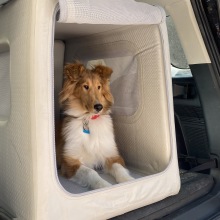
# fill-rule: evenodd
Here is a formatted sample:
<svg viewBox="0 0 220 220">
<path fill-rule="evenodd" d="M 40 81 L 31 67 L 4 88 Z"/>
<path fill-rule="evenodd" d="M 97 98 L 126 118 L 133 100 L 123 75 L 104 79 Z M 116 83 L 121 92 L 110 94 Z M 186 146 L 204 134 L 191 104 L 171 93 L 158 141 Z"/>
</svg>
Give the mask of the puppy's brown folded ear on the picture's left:
<svg viewBox="0 0 220 220">
<path fill-rule="evenodd" d="M 64 75 L 71 82 L 76 82 L 80 75 L 85 71 L 85 67 L 81 63 L 68 63 L 64 67 Z"/>
</svg>

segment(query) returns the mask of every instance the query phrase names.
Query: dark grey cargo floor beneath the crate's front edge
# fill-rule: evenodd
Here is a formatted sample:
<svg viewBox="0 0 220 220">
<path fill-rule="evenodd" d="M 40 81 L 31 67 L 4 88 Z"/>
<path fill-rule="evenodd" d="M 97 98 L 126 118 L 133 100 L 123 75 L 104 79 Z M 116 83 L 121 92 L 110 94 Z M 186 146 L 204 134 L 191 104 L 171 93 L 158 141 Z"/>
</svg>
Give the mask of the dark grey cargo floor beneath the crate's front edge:
<svg viewBox="0 0 220 220">
<path fill-rule="evenodd" d="M 206 195 L 212 188 L 213 183 L 213 178 L 206 174 L 181 173 L 181 190 L 179 194 L 168 197 L 152 205 L 111 218 L 111 220 L 153 220 L 161 218 Z"/>
</svg>

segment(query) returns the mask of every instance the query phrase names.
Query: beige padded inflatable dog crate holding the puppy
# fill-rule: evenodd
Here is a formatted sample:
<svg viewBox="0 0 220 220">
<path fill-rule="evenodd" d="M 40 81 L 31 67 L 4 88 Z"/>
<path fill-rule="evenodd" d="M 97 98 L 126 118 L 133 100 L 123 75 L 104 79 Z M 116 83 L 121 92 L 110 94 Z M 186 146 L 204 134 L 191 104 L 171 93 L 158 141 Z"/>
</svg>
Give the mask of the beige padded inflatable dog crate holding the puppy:
<svg viewBox="0 0 220 220">
<path fill-rule="evenodd" d="M 0 8 L 0 207 L 22 220 L 97 220 L 178 193 L 165 17 L 132 0 L 11 0 Z M 113 69 L 116 141 L 135 180 L 88 191 L 59 176 L 57 100 L 73 60 Z"/>
</svg>

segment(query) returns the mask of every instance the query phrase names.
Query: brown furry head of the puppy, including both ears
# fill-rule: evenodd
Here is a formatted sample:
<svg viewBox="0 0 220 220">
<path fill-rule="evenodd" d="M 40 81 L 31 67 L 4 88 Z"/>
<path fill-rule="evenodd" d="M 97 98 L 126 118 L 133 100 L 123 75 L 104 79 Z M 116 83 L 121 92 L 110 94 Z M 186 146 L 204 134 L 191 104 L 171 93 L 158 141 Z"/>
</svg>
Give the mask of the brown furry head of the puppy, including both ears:
<svg viewBox="0 0 220 220">
<path fill-rule="evenodd" d="M 105 114 L 113 104 L 109 79 L 112 70 L 98 65 L 92 70 L 80 63 L 67 64 L 60 103 L 67 114 L 78 117 L 85 113 Z"/>
</svg>

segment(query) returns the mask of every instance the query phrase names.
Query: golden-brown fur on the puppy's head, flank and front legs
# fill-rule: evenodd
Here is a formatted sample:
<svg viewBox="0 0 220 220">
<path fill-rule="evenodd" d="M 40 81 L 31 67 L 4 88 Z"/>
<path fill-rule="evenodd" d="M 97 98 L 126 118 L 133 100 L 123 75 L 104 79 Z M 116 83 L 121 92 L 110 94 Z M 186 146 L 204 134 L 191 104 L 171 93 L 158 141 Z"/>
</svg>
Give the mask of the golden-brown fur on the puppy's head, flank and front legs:
<svg viewBox="0 0 220 220">
<path fill-rule="evenodd" d="M 79 62 L 67 64 L 64 67 L 65 80 L 63 89 L 59 94 L 59 101 L 63 109 L 78 109 L 82 114 L 95 113 L 94 105 L 100 103 L 103 105 L 101 114 L 105 114 L 113 104 L 113 97 L 109 87 L 111 74 L 112 69 L 102 65 L 88 70 Z M 88 90 L 85 89 L 85 86 L 89 87 Z M 78 159 L 73 159 L 63 154 L 65 140 L 62 135 L 62 129 L 69 120 L 71 118 L 67 117 L 56 126 L 57 166 L 61 168 L 61 173 L 67 178 L 73 176 L 80 167 Z M 113 161 L 119 161 L 124 164 L 122 158 L 109 158 L 108 166 L 111 166 Z"/>
</svg>

